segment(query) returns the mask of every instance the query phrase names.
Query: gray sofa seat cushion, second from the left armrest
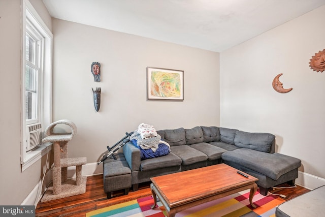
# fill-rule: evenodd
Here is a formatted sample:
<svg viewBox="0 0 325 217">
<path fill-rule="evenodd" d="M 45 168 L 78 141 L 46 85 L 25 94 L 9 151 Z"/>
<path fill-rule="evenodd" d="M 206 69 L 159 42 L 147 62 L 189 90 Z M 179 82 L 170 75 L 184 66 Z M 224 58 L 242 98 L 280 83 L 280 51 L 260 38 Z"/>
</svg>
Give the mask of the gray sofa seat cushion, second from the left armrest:
<svg viewBox="0 0 325 217">
<path fill-rule="evenodd" d="M 197 149 L 191 148 L 188 145 L 171 146 L 171 152 L 182 159 L 182 165 L 190 165 L 208 159 L 206 154 Z"/>
</svg>

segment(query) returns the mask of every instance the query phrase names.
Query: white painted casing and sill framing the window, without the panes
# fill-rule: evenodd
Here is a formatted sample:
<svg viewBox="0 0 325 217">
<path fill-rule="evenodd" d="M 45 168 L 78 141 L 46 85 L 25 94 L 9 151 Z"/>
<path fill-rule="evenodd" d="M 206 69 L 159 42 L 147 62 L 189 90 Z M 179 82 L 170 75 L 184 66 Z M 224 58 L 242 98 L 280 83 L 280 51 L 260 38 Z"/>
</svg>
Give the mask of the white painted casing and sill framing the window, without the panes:
<svg viewBox="0 0 325 217">
<path fill-rule="evenodd" d="M 53 34 L 51 33 L 50 29 L 47 27 L 45 22 L 42 20 L 40 15 L 37 11 L 32 7 L 28 0 L 21 0 L 21 142 L 20 142 L 20 164 L 21 164 L 21 171 L 24 171 L 30 165 L 34 164 L 38 160 L 42 158 L 44 152 L 39 149 L 35 149 L 36 151 L 32 150 L 27 152 L 26 151 L 26 117 L 25 117 L 25 36 L 26 36 L 26 19 L 28 18 L 29 21 L 37 26 L 37 29 L 40 31 L 42 37 L 44 37 L 45 47 L 43 50 L 44 59 L 42 64 L 43 69 L 43 82 L 46 84 L 43 85 L 41 89 L 43 89 L 43 96 L 42 98 L 42 106 L 41 109 L 43 111 L 39 118 L 42 120 L 43 126 L 48 126 L 51 123 L 52 119 L 52 47 L 53 47 Z M 46 114 L 46 115 L 44 115 Z"/>
</svg>

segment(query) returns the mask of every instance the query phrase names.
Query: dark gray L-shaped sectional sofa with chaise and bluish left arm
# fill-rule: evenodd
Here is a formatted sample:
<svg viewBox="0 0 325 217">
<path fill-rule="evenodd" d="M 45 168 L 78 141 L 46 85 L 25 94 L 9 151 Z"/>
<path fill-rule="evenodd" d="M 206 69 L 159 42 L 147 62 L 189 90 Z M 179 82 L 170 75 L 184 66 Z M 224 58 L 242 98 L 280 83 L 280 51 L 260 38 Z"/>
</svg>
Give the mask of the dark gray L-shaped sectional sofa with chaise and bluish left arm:
<svg viewBox="0 0 325 217">
<path fill-rule="evenodd" d="M 140 149 L 132 142 L 123 146 L 131 169 L 133 190 L 150 177 L 225 163 L 258 178 L 260 193 L 284 182 L 294 184 L 301 161 L 274 153 L 275 136 L 219 127 L 160 130 L 161 139 L 170 144 L 166 156 L 141 160 Z"/>
</svg>

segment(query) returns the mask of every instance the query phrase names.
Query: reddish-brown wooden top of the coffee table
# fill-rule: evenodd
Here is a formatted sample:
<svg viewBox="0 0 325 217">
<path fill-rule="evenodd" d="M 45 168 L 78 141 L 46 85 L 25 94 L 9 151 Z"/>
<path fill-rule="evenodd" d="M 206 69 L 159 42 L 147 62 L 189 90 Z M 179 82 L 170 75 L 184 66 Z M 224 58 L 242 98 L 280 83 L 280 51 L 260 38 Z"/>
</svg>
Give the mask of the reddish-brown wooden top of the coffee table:
<svg viewBox="0 0 325 217">
<path fill-rule="evenodd" d="M 237 173 L 237 169 L 226 164 L 217 164 L 151 178 L 169 207 L 177 206 L 222 193 L 257 181 Z"/>
</svg>

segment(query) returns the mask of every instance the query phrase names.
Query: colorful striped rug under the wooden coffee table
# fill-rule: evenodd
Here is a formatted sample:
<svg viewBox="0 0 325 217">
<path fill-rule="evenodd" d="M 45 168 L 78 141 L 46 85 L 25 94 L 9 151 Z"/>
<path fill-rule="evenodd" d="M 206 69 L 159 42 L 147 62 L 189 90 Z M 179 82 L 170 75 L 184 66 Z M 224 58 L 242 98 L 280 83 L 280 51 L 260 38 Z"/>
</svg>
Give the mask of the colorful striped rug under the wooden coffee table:
<svg viewBox="0 0 325 217">
<path fill-rule="evenodd" d="M 224 198 L 220 198 L 205 204 L 194 206 L 192 208 L 183 210 L 176 213 L 175 217 L 190 217 L 190 216 L 275 216 L 275 209 L 278 205 L 283 203 L 284 200 L 278 196 L 268 195 L 263 196 L 256 192 L 253 203 L 257 206 L 252 209 L 249 204 L 249 190 L 242 191 Z M 160 201 L 157 206 L 151 209 L 153 204 L 151 196 L 139 198 L 137 200 L 109 206 L 106 208 L 94 210 L 86 214 L 87 217 L 164 217 L 166 211 Z"/>
</svg>

